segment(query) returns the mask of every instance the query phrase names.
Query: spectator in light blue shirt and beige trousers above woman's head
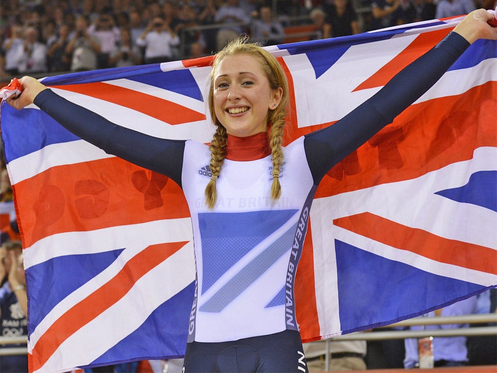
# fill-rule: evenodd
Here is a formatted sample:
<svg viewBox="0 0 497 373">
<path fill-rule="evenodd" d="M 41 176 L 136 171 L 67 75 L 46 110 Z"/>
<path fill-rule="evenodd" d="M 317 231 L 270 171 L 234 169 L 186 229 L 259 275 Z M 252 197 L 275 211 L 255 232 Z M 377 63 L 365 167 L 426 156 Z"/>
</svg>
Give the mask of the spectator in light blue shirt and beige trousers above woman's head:
<svg viewBox="0 0 497 373">
<path fill-rule="evenodd" d="M 216 49 L 219 51 L 230 41 L 244 34 L 249 22 L 249 16 L 239 5 L 239 0 L 226 0 L 218 9 L 214 21 L 226 24 L 218 29 L 216 35 Z M 230 25 L 231 23 L 244 23 L 242 25 Z"/>
</svg>

